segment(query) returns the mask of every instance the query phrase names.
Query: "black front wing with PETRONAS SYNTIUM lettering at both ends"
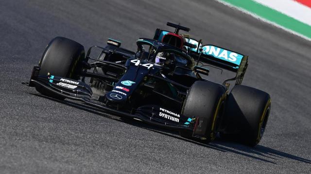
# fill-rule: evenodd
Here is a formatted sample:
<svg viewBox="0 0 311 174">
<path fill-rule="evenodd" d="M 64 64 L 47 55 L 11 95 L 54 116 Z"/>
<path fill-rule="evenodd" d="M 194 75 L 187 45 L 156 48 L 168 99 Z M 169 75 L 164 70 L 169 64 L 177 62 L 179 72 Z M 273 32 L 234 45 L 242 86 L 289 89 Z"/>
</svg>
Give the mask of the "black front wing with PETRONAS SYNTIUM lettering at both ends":
<svg viewBox="0 0 311 174">
<path fill-rule="evenodd" d="M 193 132 L 192 136 L 199 136 L 199 134 L 202 134 L 200 132 L 195 131 L 195 125 L 199 122 L 198 118 L 189 118 L 185 116 L 179 117 L 179 124 L 172 123 L 172 121 L 163 121 L 163 119 L 159 119 L 158 115 L 159 110 L 161 108 L 159 106 L 155 105 L 144 105 L 142 107 L 139 107 L 135 114 L 127 113 L 115 108 L 111 108 L 109 106 L 106 106 L 104 103 L 95 102 L 91 99 L 92 92 L 90 87 L 86 85 L 85 83 L 82 83 L 80 81 L 76 81 L 73 79 L 63 78 L 63 77 L 54 77 L 50 74 L 47 76 L 38 76 L 38 71 L 40 70 L 39 67 L 34 67 L 32 76 L 29 83 L 23 82 L 22 84 L 25 84 L 29 87 L 42 87 L 46 91 L 51 92 L 53 94 L 57 94 L 63 98 L 75 100 L 84 102 L 87 105 L 102 109 L 103 111 L 114 114 L 121 117 L 127 117 L 127 118 L 135 118 L 138 120 L 141 120 L 145 123 L 148 123 L 150 125 L 154 125 L 157 127 L 162 127 L 165 129 L 175 130 L 175 131 L 191 131 Z M 72 86 L 66 86 L 66 82 L 73 82 Z M 61 83 L 61 85 L 55 86 L 56 83 Z M 77 84 L 78 83 L 78 84 Z M 70 88 L 74 88 L 71 89 Z M 165 110 L 163 111 L 165 112 Z"/>
</svg>

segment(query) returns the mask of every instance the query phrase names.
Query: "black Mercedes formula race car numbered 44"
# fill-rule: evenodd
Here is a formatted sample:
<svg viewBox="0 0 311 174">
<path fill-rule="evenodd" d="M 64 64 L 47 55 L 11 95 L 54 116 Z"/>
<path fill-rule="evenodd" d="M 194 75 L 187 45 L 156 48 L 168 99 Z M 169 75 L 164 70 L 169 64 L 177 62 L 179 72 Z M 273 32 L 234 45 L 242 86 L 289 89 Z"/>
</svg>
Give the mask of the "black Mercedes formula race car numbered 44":
<svg viewBox="0 0 311 174">
<path fill-rule="evenodd" d="M 202 40 L 179 34 L 189 28 L 167 25 L 175 31 L 156 29 L 153 39 L 138 39 L 137 52 L 108 39 L 105 47 L 91 46 L 85 54 L 80 43 L 56 37 L 34 67 L 30 82 L 23 83 L 43 95 L 85 102 L 107 113 L 179 131 L 188 139 L 208 143 L 219 132 L 257 145 L 271 104 L 266 92 L 241 85 L 248 56 L 203 45 Z M 222 84 L 211 82 L 205 65 L 235 76 Z M 230 92 L 229 81 L 234 81 Z"/>
</svg>

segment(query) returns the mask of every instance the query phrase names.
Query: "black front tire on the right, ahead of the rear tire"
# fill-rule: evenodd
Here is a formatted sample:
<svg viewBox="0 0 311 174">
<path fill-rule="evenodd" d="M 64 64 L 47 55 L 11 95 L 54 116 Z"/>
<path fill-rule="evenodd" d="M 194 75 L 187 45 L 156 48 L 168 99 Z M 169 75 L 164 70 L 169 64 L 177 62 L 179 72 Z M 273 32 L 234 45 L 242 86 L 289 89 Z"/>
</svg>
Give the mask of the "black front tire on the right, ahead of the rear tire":
<svg viewBox="0 0 311 174">
<path fill-rule="evenodd" d="M 198 138 L 204 143 L 209 143 L 216 137 L 224 113 L 225 97 L 225 88 L 213 82 L 196 81 L 188 91 L 182 115 L 203 121 L 200 123 L 203 133 Z M 180 136 L 184 138 L 194 139 L 192 133 L 189 131 L 179 132 Z"/>
</svg>

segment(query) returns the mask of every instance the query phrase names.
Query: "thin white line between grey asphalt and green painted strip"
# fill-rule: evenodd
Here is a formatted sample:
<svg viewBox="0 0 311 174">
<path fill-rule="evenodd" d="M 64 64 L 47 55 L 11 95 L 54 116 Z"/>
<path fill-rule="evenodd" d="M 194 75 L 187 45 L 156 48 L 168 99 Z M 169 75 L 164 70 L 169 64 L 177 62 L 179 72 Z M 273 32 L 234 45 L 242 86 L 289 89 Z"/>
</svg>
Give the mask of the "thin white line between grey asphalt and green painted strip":
<svg viewBox="0 0 311 174">
<path fill-rule="evenodd" d="M 302 34 L 296 32 L 296 31 L 294 31 L 294 30 L 287 29 L 287 28 L 285 28 L 285 27 L 283 27 L 283 26 L 280 26 L 280 25 L 276 24 L 275 22 L 271 22 L 271 21 L 269 21 L 269 20 L 267 20 L 267 19 L 265 19 L 265 18 L 263 18 L 263 17 L 258 16 L 257 14 L 253 14 L 253 13 L 247 11 L 247 10 L 244 10 L 244 9 L 242 9 L 241 7 L 237 7 L 237 6 L 231 5 L 230 3 L 225 2 L 225 1 L 222 1 L 222 0 L 216 0 L 216 1 L 218 1 L 219 3 L 224 4 L 225 6 L 228 6 L 228 7 L 232 8 L 232 9 L 236 9 L 236 10 L 238 10 L 238 11 L 244 13 L 244 14 L 251 15 L 251 16 L 253 16 L 254 18 L 259 19 L 259 20 L 262 21 L 262 22 L 266 22 L 266 23 L 268 23 L 268 24 L 271 24 L 271 25 L 273 25 L 273 26 L 275 26 L 275 27 L 277 27 L 277 28 L 279 28 L 279 29 L 283 29 L 283 30 L 285 30 L 285 31 L 287 31 L 287 32 L 289 32 L 289 33 L 291 33 L 291 34 L 294 34 L 294 35 L 296 35 L 296 36 L 299 36 L 299 37 L 301 37 L 301 38 L 303 38 L 303 39 L 305 39 L 305 40 L 311 42 L 311 38 L 308 38 L 307 36 L 304 36 L 304 35 L 302 35 Z"/>
</svg>

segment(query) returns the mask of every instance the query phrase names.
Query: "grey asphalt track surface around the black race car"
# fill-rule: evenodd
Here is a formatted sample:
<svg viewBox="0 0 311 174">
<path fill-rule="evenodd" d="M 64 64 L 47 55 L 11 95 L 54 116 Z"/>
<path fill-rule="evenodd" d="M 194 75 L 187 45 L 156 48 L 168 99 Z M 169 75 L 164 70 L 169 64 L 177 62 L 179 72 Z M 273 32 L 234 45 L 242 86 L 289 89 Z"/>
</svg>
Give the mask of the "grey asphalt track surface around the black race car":
<svg viewBox="0 0 311 174">
<path fill-rule="evenodd" d="M 255 148 L 208 145 L 81 103 L 41 96 L 28 81 L 55 36 L 86 48 L 108 37 L 136 49 L 166 22 L 194 38 L 249 55 L 243 84 L 270 93 Z M 311 43 L 217 1 L 0 1 L 0 173 L 309 173 Z"/>
</svg>

